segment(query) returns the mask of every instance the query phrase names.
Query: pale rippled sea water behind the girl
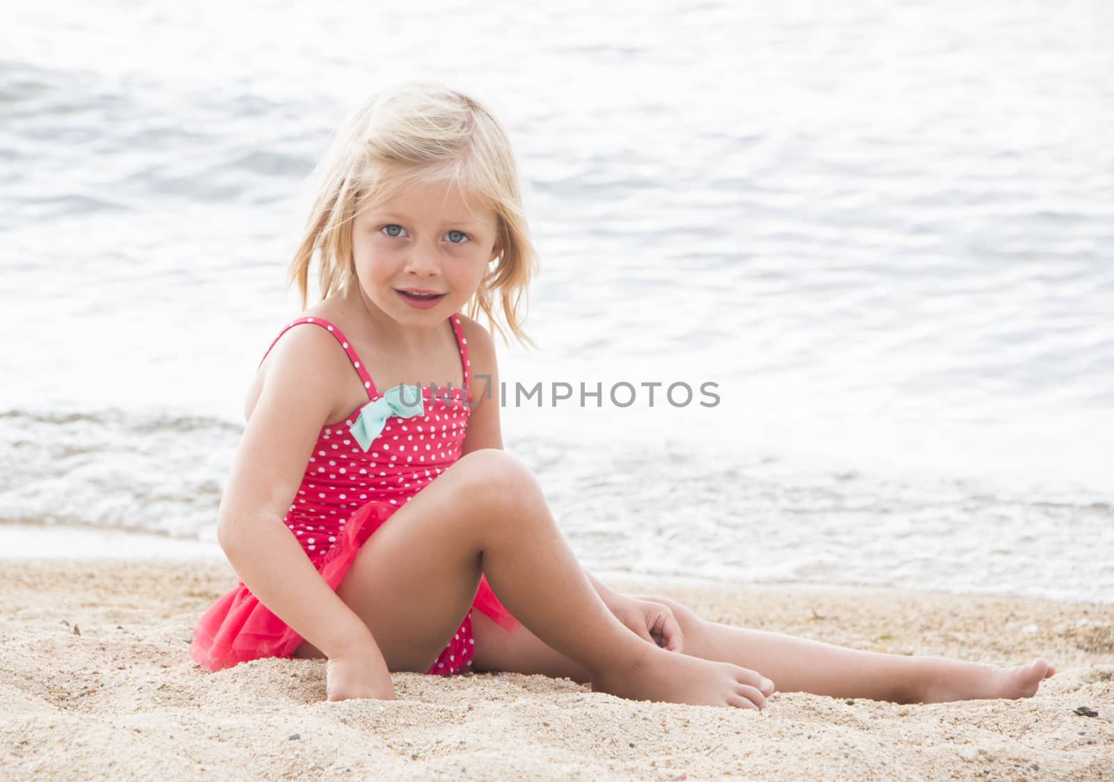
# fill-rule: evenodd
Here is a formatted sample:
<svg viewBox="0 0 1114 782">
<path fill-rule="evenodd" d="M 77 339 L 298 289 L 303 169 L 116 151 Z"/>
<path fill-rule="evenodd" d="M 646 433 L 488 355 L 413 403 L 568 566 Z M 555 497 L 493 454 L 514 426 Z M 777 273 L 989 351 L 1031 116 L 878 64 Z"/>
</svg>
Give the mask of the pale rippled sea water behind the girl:
<svg viewBox="0 0 1114 782">
<path fill-rule="evenodd" d="M 1110 599 L 1114 12 L 837 6 L 6 6 L 0 521 L 212 536 L 302 179 L 429 77 L 526 178 L 504 379 L 605 390 L 504 409 L 586 566 Z"/>
</svg>

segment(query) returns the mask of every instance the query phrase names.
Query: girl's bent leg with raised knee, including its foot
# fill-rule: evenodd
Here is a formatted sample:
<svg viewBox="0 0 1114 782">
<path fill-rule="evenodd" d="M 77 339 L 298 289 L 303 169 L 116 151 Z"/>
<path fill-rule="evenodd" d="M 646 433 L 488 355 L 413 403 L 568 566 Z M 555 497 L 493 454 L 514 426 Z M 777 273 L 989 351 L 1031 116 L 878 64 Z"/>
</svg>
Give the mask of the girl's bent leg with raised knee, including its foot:
<svg viewBox="0 0 1114 782">
<path fill-rule="evenodd" d="M 753 671 L 672 654 L 627 631 L 577 564 L 534 476 L 501 450 L 462 457 L 399 508 L 360 548 L 336 594 L 371 629 L 391 671 L 424 672 L 463 620 L 481 571 L 526 628 L 589 673 L 594 690 L 764 703 Z M 307 643 L 295 654 L 320 656 Z"/>
</svg>

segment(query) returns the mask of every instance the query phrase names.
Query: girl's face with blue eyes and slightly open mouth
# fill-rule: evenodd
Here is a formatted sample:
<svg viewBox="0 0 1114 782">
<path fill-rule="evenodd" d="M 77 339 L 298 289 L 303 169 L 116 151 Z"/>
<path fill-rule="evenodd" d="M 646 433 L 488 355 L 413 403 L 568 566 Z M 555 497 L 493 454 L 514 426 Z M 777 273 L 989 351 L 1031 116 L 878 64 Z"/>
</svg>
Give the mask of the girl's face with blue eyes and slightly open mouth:
<svg viewBox="0 0 1114 782">
<path fill-rule="evenodd" d="M 362 209 L 352 254 L 363 295 L 401 325 L 432 326 L 460 310 L 498 257 L 498 221 L 456 185 L 418 185 Z M 438 294 L 416 297 L 411 293 Z"/>
</svg>

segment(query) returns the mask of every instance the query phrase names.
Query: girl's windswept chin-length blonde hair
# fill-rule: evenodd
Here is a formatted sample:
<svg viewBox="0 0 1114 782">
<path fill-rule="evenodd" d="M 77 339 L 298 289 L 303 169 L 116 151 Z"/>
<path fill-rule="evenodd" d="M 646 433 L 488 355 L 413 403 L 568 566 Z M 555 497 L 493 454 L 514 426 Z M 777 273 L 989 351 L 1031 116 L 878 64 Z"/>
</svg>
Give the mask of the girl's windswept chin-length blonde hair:
<svg viewBox="0 0 1114 782">
<path fill-rule="evenodd" d="M 478 101 L 432 82 L 404 82 L 373 95 L 353 111 L 314 172 L 316 195 L 289 268 L 307 303 L 310 265 L 319 258 L 321 299 L 355 281 L 352 221 L 369 203 L 407 187 L 449 182 L 478 194 L 495 211 L 500 255 L 480 281 L 466 314 L 482 312 L 506 343 L 496 321 L 501 311 L 510 333 L 532 345 L 519 306 L 538 273 L 518 182 L 518 166 L 502 125 Z"/>
</svg>

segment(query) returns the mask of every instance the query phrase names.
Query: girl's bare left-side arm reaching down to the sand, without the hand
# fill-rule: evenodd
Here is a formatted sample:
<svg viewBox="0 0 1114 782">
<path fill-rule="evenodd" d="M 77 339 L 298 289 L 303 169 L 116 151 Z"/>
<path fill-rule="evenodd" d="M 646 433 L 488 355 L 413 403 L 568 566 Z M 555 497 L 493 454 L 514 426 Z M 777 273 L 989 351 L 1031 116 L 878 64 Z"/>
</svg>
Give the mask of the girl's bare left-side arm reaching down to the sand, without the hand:
<svg viewBox="0 0 1114 782">
<path fill-rule="evenodd" d="M 267 355 L 266 375 L 221 500 L 217 540 L 241 580 L 330 658 L 359 654 L 387 664 L 368 626 L 336 596 L 283 524 L 317 434 L 352 373 L 332 335 L 291 329 Z M 387 684 L 390 684 L 388 675 Z"/>
</svg>

